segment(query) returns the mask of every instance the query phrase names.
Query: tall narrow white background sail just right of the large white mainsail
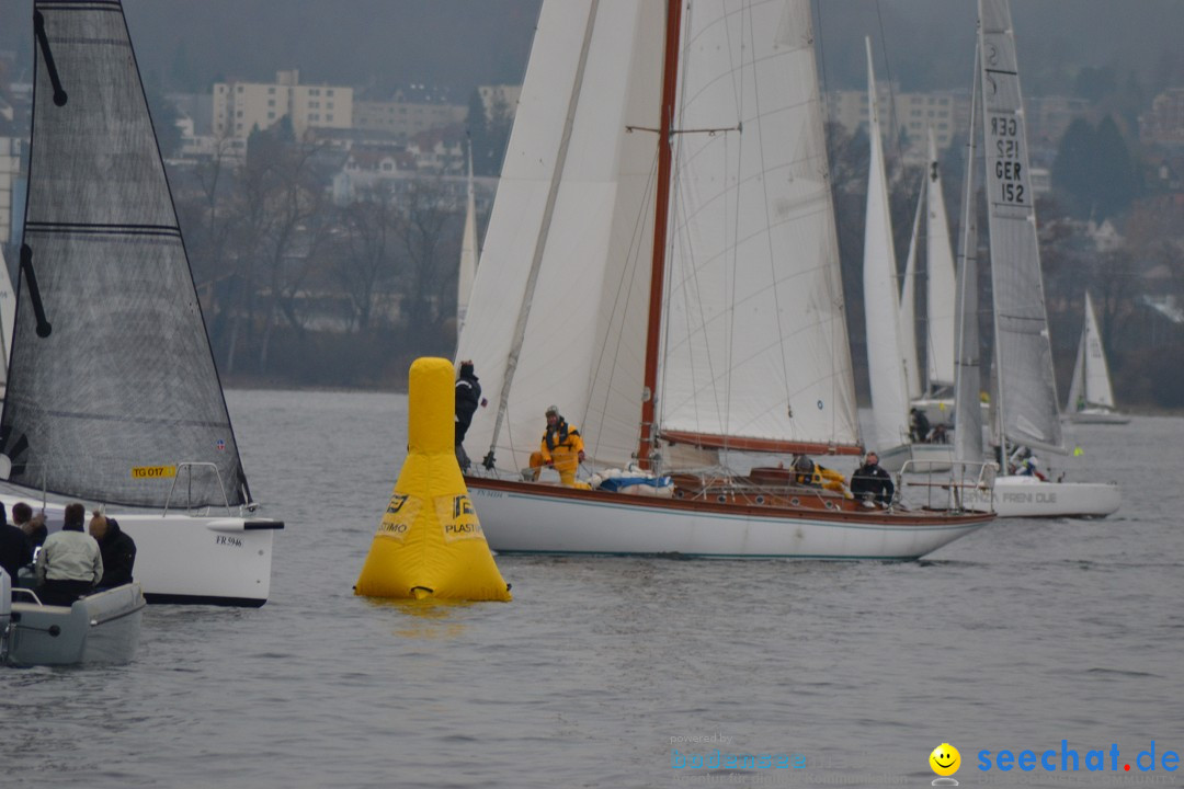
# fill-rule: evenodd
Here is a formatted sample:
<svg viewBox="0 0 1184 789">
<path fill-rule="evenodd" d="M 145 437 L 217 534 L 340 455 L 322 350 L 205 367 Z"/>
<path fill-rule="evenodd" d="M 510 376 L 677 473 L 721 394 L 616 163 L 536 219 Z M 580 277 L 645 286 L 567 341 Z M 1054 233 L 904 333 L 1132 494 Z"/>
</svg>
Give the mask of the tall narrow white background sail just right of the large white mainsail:
<svg viewBox="0 0 1184 789">
<path fill-rule="evenodd" d="M 900 305 L 896 298 L 896 253 L 893 248 L 884 176 L 883 142 L 871 39 L 868 47 L 868 211 L 863 231 L 863 311 L 867 317 L 868 375 L 871 386 L 873 441 L 881 451 L 908 442 L 908 395 L 901 357 Z"/>
</svg>

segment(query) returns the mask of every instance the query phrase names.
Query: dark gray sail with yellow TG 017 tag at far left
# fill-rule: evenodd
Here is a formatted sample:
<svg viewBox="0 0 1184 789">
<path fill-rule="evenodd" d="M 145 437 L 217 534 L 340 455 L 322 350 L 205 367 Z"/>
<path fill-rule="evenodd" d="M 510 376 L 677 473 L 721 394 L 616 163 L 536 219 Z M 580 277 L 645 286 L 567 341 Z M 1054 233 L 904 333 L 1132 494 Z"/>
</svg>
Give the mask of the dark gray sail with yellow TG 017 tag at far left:
<svg viewBox="0 0 1184 789">
<path fill-rule="evenodd" d="M 9 479 L 160 506 L 179 463 L 250 500 L 123 8 L 34 4 L 28 200 L 0 450 Z M 224 503 L 210 467 L 174 505 Z"/>
</svg>

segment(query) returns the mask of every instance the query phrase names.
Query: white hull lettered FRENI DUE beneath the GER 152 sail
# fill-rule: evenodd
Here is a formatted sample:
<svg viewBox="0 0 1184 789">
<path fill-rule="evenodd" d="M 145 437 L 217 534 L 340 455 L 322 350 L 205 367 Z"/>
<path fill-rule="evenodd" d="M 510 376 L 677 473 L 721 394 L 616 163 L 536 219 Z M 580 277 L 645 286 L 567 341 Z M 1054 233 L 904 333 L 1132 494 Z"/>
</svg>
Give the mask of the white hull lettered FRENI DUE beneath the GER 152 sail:
<svg viewBox="0 0 1184 789">
<path fill-rule="evenodd" d="M 1000 518 L 1105 518 L 1121 503 L 1119 486 L 1111 483 L 1049 483 L 1035 477 L 997 477 L 990 502 Z M 970 506 L 986 509 L 985 494 Z"/>
</svg>

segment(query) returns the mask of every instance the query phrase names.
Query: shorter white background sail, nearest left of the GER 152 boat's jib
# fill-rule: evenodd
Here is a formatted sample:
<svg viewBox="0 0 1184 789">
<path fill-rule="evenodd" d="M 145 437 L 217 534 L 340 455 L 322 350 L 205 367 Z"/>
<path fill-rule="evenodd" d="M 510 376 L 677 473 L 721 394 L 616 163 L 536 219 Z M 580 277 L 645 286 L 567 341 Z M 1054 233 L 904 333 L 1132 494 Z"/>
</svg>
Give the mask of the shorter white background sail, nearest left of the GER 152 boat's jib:
<svg viewBox="0 0 1184 789">
<path fill-rule="evenodd" d="M 928 350 L 928 387 L 947 387 L 954 382 L 954 256 L 950 247 L 950 220 L 941 193 L 938 145 L 929 129 L 929 172 L 926 180 L 926 271 L 928 273 L 926 306 L 926 347 Z"/>
</svg>

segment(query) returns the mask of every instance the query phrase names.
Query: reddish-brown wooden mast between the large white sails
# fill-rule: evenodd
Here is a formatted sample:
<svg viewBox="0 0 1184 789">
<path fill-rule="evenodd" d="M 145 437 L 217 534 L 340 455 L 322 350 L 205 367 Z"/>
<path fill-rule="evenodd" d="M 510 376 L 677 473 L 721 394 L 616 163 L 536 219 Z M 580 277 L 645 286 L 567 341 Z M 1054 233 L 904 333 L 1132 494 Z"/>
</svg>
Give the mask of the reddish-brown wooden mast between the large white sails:
<svg viewBox="0 0 1184 789">
<path fill-rule="evenodd" d="M 645 371 L 642 395 L 642 434 L 637 463 L 650 467 L 657 402 L 658 339 L 662 332 L 662 290 L 665 278 L 667 226 L 670 214 L 670 175 L 674 169 L 674 104 L 678 82 L 678 32 L 683 0 L 667 0 L 665 54 L 662 65 L 662 112 L 658 119 L 658 174 L 654 207 L 654 254 L 650 269 L 650 310 L 645 326 Z"/>
</svg>

